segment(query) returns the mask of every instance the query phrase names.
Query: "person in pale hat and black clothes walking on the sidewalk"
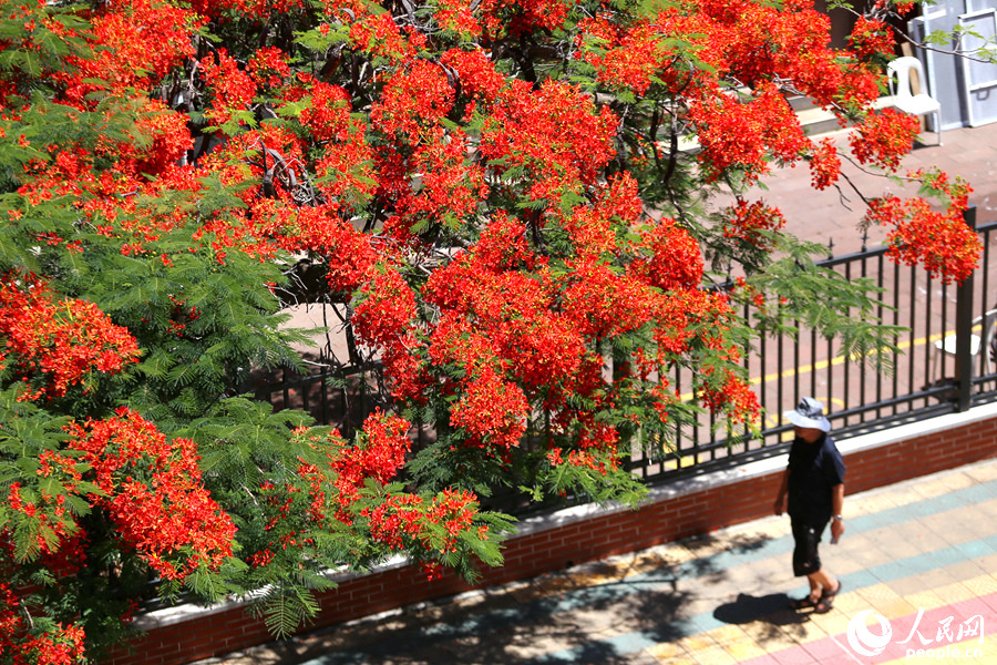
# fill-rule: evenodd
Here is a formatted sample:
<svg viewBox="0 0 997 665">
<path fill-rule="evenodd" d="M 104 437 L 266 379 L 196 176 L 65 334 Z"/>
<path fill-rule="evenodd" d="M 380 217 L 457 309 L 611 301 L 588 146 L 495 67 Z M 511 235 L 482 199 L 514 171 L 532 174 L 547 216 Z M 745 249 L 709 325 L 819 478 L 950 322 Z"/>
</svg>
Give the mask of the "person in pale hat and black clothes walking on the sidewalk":
<svg viewBox="0 0 997 665">
<path fill-rule="evenodd" d="M 821 565 L 818 543 L 831 523 L 831 543 L 844 533 L 844 461 L 828 436 L 831 421 L 824 416 L 824 405 L 804 397 L 793 411 L 783 417 L 793 423 L 795 439 L 790 449 L 789 466 L 775 498 L 775 514 L 789 512 L 793 531 L 793 574 L 805 576 L 810 594 L 793 601 L 793 610 L 813 607 L 818 614 L 831 610 L 834 596 L 841 591 L 835 580 Z M 787 502 L 789 499 L 789 502 Z"/>
</svg>

